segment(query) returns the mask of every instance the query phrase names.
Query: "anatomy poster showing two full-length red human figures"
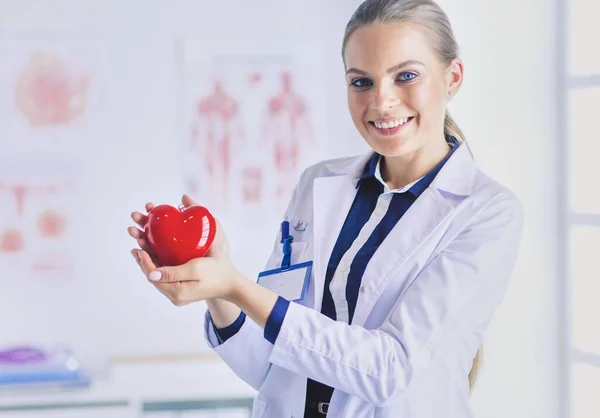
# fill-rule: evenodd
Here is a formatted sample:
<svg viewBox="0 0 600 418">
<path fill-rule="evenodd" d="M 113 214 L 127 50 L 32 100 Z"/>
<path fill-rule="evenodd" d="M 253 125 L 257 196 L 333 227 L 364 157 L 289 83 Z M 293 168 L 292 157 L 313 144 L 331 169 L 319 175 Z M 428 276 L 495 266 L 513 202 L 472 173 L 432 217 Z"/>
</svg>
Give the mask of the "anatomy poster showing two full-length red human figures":
<svg viewBox="0 0 600 418">
<path fill-rule="evenodd" d="M 182 42 L 180 137 L 188 193 L 246 228 L 264 231 L 259 219 L 281 218 L 302 170 L 323 158 L 326 86 L 319 57 L 310 44 Z"/>
</svg>

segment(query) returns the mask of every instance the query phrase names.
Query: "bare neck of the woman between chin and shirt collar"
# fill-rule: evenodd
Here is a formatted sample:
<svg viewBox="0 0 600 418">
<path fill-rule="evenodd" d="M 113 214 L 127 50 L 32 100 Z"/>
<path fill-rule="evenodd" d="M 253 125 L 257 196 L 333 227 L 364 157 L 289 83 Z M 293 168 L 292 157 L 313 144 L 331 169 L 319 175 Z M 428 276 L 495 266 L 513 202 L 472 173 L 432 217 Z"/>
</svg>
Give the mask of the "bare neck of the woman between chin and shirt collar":
<svg viewBox="0 0 600 418">
<path fill-rule="evenodd" d="M 390 189 L 399 189 L 429 173 L 449 152 L 450 148 L 443 138 L 410 154 L 382 157 L 381 176 Z"/>
</svg>

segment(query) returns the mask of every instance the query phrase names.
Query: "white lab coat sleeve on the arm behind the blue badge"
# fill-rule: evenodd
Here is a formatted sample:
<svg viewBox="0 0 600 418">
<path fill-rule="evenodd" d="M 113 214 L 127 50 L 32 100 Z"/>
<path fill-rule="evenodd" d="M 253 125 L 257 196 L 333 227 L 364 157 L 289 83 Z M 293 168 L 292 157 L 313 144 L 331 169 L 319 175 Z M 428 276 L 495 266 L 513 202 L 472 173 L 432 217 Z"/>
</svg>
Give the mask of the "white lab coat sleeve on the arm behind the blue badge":
<svg viewBox="0 0 600 418">
<path fill-rule="evenodd" d="M 302 174 L 298 185 L 292 195 L 285 216 L 294 207 L 300 189 L 305 185 L 306 172 Z M 279 242 L 281 231 L 277 234 L 273 251 L 266 263 L 265 270 L 276 268 L 281 262 Z M 242 378 L 255 390 L 259 390 L 264 382 L 271 362 L 269 357 L 273 344 L 264 337 L 264 329 L 259 327 L 252 319 L 246 317 L 240 330 L 224 342 L 220 342 L 215 333 L 209 312 L 205 314 L 204 337 L 211 347 L 229 365 L 235 374 Z"/>
</svg>

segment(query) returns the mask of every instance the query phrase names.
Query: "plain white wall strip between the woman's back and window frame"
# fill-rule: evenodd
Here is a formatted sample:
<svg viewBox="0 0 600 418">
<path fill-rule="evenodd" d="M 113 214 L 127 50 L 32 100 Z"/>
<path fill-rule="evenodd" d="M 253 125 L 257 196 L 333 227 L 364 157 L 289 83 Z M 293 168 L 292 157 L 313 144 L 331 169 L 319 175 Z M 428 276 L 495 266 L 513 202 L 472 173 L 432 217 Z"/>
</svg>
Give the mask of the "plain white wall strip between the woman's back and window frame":
<svg viewBox="0 0 600 418">
<path fill-rule="evenodd" d="M 476 410 L 558 417 L 555 2 L 446 3 L 467 62 L 457 118 L 481 167 L 526 212 L 520 261 L 487 338 Z"/>
</svg>

